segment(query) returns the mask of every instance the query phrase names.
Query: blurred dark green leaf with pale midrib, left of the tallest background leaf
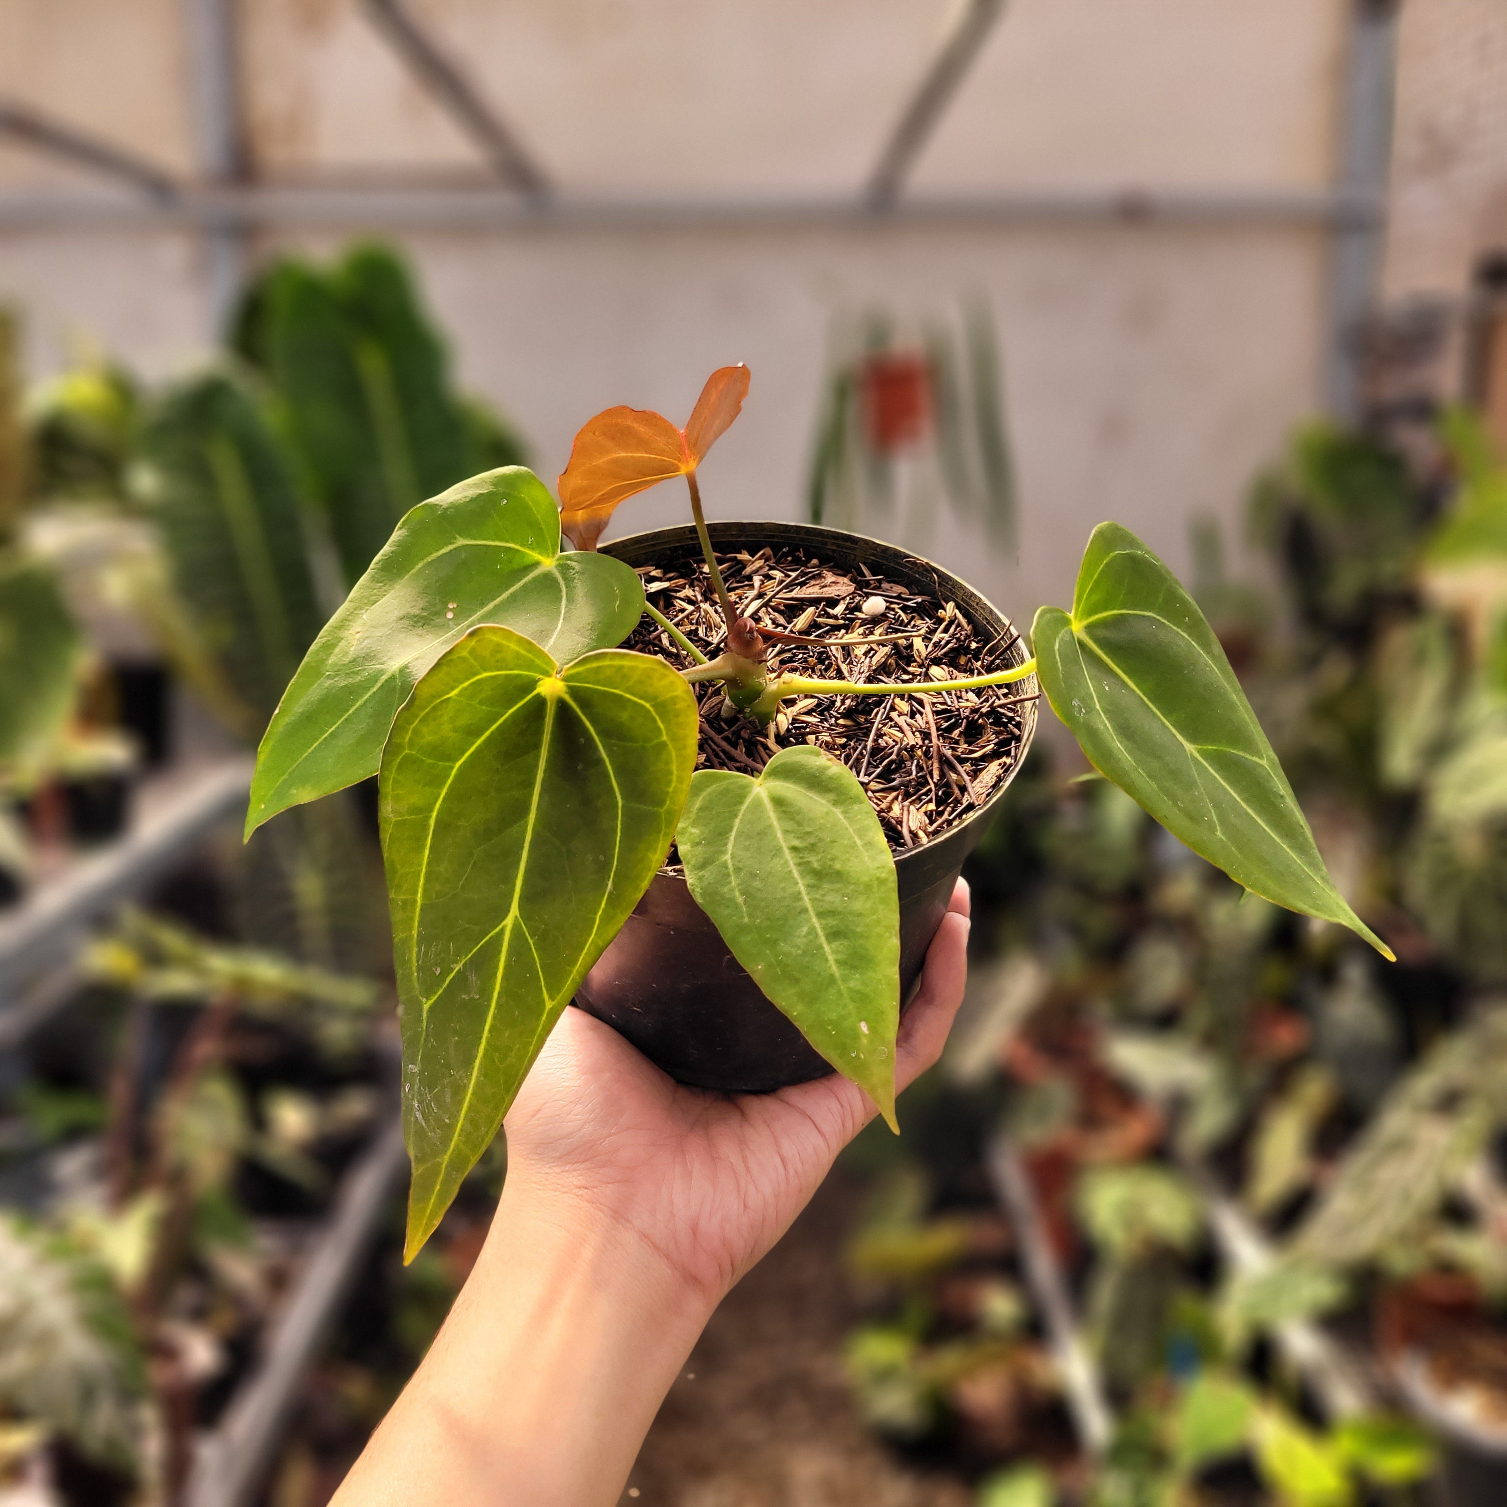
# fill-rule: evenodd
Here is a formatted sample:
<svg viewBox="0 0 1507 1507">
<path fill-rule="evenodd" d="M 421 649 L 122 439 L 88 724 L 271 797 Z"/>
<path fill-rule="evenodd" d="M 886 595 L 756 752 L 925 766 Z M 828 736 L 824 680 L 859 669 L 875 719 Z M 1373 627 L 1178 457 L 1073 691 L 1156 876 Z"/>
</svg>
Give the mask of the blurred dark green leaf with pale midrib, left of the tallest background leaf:
<svg viewBox="0 0 1507 1507">
<path fill-rule="evenodd" d="M 259 731 L 324 624 L 286 451 L 252 393 L 209 372 L 155 405 L 131 484 L 194 631 Z"/>
</svg>

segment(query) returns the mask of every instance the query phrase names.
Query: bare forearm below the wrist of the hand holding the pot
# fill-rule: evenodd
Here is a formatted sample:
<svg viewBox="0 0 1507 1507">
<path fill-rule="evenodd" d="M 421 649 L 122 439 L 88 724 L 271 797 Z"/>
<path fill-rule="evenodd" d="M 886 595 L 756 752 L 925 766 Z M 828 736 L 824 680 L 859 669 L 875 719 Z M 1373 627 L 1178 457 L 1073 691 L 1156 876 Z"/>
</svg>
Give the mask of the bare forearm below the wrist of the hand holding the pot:
<svg viewBox="0 0 1507 1507">
<path fill-rule="evenodd" d="M 710 1308 L 621 1225 L 509 1180 L 335 1507 L 615 1502 Z"/>
</svg>

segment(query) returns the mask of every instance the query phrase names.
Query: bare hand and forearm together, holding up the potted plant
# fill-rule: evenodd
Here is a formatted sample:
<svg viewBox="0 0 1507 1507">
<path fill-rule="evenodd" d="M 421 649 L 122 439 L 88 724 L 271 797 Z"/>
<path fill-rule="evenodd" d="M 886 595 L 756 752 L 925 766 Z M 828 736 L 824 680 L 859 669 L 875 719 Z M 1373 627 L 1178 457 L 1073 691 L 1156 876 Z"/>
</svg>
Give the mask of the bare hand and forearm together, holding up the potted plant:
<svg viewBox="0 0 1507 1507">
<path fill-rule="evenodd" d="M 897 1090 L 942 1052 L 966 949 L 958 882 L 900 1025 Z M 681 1088 L 567 1010 L 508 1114 L 476 1266 L 332 1507 L 610 1507 L 711 1310 L 874 1112 L 838 1076 Z"/>
</svg>

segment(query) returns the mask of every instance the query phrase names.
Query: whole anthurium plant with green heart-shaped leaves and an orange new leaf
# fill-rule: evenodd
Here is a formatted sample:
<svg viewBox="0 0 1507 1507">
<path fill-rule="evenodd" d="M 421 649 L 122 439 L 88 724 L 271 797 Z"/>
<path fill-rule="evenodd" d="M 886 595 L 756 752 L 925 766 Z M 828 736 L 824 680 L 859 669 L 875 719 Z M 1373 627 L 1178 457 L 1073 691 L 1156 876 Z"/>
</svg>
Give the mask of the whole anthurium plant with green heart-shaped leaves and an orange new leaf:
<svg viewBox="0 0 1507 1507">
<path fill-rule="evenodd" d="M 1118 524 L 1090 538 L 1073 606 L 1037 615 L 1025 663 L 913 684 L 778 669 L 781 643 L 851 639 L 761 627 L 728 591 L 698 473 L 747 390 L 746 368 L 714 372 L 684 429 L 634 408 L 598 414 L 576 437 L 558 508 L 521 467 L 420 503 L 326 625 L 262 740 L 247 835 L 380 772 L 410 1257 L 672 844 L 732 957 L 895 1126 L 900 909 L 874 806 L 847 766 L 802 740 L 758 773 L 698 770 L 698 683 L 720 683 L 763 726 L 791 698 L 1016 686 L 1008 704 L 1038 683 L 1094 767 L 1174 836 L 1254 894 L 1386 952 L 1329 879 L 1203 613 Z M 702 643 L 595 549 L 621 503 L 675 476 L 720 618 Z M 687 668 L 618 647 L 643 615 Z"/>
</svg>

